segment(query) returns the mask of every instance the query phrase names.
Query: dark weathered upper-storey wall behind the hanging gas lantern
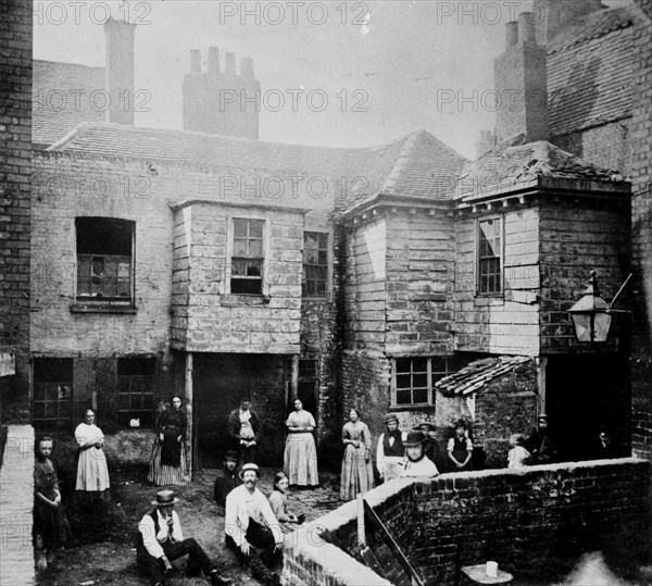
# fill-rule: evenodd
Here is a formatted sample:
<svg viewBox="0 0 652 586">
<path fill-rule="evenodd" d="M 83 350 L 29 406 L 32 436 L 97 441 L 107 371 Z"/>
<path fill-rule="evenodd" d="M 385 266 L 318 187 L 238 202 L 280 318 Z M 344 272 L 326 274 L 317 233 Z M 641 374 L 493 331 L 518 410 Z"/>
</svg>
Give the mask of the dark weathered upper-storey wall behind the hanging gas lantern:
<svg viewBox="0 0 652 586">
<path fill-rule="evenodd" d="M 587 287 L 594 270 L 604 299 L 611 301 L 629 272 L 629 198 L 578 205 L 563 200 L 542 203 L 540 217 L 541 351 L 579 349 L 567 310 Z M 618 299 L 626 302 L 627 292 Z M 620 306 L 623 307 L 623 306 Z M 626 322 L 613 321 L 619 327 Z M 624 337 L 626 338 L 626 337 Z M 612 349 L 615 349 L 612 345 Z"/>
</svg>

